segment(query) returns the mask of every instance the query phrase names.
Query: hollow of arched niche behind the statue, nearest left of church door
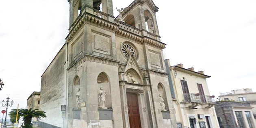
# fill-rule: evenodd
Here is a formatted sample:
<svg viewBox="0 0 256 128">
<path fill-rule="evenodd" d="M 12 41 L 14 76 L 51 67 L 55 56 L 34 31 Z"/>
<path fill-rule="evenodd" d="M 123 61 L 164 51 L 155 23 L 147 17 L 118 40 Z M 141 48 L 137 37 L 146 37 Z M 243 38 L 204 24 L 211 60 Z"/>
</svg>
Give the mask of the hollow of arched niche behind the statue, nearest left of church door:
<svg viewBox="0 0 256 128">
<path fill-rule="evenodd" d="M 97 83 L 98 83 L 98 91 L 100 90 L 100 87 L 103 86 L 104 91 L 106 91 L 106 102 L 105 107 L 109 108 L 111 107 L 111 90 L 110 90 L 110 81 L 109 77 L 105 72 L 101 72 L 97 77 Z M 98 95 L 99 98 L 99 95 Z"/>
</svg>

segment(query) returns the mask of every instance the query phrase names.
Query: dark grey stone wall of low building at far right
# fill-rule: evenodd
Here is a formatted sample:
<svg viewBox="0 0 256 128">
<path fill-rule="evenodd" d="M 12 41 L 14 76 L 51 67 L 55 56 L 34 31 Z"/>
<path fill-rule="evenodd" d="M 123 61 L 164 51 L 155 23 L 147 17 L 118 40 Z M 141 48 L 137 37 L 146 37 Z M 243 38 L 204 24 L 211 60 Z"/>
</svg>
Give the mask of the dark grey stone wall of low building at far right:
<svg viewBox="0 0 256 128">
<path fill-rule="evenodd" d="M 233 106 L 245 106 L 250 107 L 249 103 L 242 102 L 216 102 L 215 110 L 217 117 L 221 117 L 222 122 L 219 123 L 221 128 L 239 128 L 236 126 L 235 115 L 233 112 Z"/>
</svg>

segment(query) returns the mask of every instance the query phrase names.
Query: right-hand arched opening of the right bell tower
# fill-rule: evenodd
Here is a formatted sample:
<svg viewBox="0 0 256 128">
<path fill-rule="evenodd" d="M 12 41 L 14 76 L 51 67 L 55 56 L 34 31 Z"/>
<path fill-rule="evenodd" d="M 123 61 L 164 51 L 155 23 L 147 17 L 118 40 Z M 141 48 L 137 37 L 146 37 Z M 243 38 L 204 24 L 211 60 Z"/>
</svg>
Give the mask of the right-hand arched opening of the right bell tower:
<svg viewBox="0 0 256 128">
<path fill-rule="evenodd" d="M 145 10 L 145 11 L 144 11 L 144 16 L 145 16 L 145 25 L 146 25 L 146 29 L 147 29 L 150 33 L 154 33 L 154 34 L 155 34 L 154 19 L 153 19 L 152 14 L 150 13 L 150 11 Z"/>
</svg>

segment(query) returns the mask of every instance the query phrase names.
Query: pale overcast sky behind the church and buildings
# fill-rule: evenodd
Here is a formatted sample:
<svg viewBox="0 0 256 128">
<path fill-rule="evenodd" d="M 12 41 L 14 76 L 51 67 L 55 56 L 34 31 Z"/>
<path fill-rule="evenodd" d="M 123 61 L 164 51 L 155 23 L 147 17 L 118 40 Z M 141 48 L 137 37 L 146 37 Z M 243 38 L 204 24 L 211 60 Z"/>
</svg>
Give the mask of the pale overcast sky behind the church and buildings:
<svg viewBox="0 0 256 128">
<path fill-rule="evenodd" d="M 120 2 L 121 1 L 121 2 Z M 113 0 L 114 16 L 133 0 Z M 256 0 L 153 0 L 164 58 L 204 71 L 211 95 L 256 91 Z M 41 75 L 65 43 L 67 0 L 1 0 L 0 101 L 26 108 Z M 0 107 L 0 110 L 5 108 Z M 9 109 L 10 110 L 10 109 Z M 0 117 L 2 115 L 0 114 Z"/>
</svg>

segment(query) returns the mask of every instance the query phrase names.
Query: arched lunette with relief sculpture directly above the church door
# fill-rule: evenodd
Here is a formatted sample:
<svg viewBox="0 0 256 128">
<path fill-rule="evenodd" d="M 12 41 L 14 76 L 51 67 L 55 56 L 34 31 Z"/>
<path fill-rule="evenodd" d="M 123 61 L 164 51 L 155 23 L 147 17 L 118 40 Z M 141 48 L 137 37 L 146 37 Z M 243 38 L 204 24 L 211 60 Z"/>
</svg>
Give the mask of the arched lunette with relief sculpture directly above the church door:
<svg viewBox="0 0 256 128">
<path fill-rule="evenodd" d="M 141 76 L 134 70 L 128 69 L 124 74 L 124 80 L 130 83 L 143 84 Z"/>
</svg>

